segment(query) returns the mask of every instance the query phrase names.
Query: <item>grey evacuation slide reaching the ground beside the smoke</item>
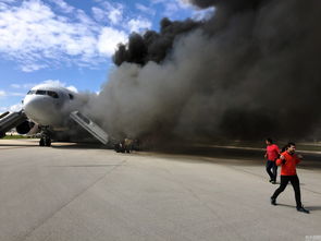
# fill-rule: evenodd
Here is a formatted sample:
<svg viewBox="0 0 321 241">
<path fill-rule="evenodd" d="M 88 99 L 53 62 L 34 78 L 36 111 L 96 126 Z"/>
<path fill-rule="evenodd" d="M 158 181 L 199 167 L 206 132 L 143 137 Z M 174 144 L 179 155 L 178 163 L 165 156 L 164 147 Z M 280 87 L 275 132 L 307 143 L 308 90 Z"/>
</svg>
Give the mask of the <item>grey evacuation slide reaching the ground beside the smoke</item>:
<svg viewBox="0 0 321 241">
<path fill-rule="evenodd" d="M 79 124 L 83 129 L 89 132 L 95 138 L 97 138 L 102 144 L 107 144 L 109 142 L 108 134 L 99 128 L 94 121 L 91 121 L 88 117 L 84 116 L 79 111 L 73 111 L 70 113 L 70 118 L 74 120 L 77 124 Z"/>
</svg>

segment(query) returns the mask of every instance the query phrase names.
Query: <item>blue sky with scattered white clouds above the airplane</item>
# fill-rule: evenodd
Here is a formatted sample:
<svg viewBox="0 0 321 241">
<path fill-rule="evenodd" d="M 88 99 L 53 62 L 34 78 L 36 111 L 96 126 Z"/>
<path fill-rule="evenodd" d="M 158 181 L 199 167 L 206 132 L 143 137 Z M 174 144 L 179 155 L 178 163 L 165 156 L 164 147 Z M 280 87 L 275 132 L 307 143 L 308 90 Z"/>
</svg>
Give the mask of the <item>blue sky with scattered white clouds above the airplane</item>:
<svg viewBox="0 0 321 241">
<path fill-rule="evenodd" d="M 188 0 L 0 0 L 0 112 L 44 82 L 97 93 L 132 32 L 203 15 Z"/>
</svg>

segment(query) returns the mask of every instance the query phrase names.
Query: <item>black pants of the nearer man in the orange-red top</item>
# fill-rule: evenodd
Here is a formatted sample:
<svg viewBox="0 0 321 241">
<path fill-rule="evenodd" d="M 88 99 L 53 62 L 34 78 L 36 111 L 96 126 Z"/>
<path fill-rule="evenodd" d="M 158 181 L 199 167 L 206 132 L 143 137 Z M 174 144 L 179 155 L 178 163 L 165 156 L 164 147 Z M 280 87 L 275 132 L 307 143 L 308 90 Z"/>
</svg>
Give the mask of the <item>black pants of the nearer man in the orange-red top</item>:
<svg viewBox="0 0 321 241">
<path fill-rule="evenodd" d="M 294 189 L 296 207 L 301 207 L 303 204 L 301 204 L 301 194 L 300 194 L 300 182 L 297 176 L 281 176 L 280 188 L 275 190 L 271 198 L 276 200 L 279 194 L 285 190 L 288 181 L 291 182 Z"/>
</svg>

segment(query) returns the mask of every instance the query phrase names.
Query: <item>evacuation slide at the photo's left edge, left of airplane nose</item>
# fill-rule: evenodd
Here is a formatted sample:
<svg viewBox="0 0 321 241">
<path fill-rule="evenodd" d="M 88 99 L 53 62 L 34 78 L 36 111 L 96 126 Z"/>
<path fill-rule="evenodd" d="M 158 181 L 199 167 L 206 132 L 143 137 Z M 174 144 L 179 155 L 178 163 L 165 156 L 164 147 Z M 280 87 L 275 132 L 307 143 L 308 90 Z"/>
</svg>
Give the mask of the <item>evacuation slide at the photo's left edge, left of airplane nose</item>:
<svg viewBox="0 0 321 241">
<path fill-rule="evenodd" d="M 21 110 L 18 112 L 4 112 L 0 116 L 0 137 L 5 135 L 5 132 L 22 124 L 27 120 L 26 115 Z"/>
</svg>

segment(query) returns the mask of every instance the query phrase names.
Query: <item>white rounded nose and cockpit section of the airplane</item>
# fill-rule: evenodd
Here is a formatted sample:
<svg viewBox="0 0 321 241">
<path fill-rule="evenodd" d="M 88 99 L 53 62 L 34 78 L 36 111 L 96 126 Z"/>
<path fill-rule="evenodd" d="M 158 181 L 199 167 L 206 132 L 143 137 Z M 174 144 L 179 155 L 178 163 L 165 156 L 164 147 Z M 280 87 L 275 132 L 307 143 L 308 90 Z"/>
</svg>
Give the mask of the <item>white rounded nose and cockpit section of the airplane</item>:
<svg viewBox="0 0 321 241">
<path fill-rule="evenodd" d="M 23 100 L 27 118 L 39 125 L 62 126 L 75 105 L 76 93 L 49 84 L 33 87 Z"/>
</svg>

